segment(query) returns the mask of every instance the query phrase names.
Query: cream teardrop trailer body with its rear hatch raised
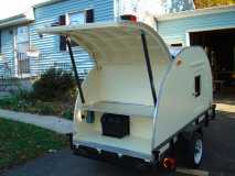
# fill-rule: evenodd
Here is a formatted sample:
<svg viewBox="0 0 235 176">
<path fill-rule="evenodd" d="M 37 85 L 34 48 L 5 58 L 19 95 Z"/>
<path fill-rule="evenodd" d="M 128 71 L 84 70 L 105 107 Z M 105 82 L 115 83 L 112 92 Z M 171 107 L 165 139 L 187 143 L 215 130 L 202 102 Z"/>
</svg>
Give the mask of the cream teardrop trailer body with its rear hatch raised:
<svg viewBox="0 0 235 176">
<path fill-rule="evenodd" d="M 143 23 L 54 26 L 39 32 L 68 35 L 95 59 L 82 85 L 85 103 L 78 96 L 75 106 L 73 144 L 77 147 L 153 161 L 154 150 L 164 152 L 169 139 L 177 140 L 183 128 L 200 116 L 203 119 L 212 106 L 212 75 L 203 50 L 186 47 L 173 58 L 158 33 Z M 156 106 L 141 33 L 149 50 Z M 86 121 L 88 111 L 95 112 L 93 123 Z M 103 135 L 104 113 L 129 116 L 130 134 L 122 139 Z"/>
</svg>

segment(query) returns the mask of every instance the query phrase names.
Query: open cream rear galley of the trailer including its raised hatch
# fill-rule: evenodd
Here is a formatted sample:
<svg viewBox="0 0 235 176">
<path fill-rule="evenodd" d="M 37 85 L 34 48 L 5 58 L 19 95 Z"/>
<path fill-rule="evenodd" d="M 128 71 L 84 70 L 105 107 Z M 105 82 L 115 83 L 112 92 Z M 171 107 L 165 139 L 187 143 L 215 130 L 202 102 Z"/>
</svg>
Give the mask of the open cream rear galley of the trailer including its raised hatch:
<svg viewBox="0 0 235 176">
<path fill-rule="evenodd" d="M 82 86 L 77 80 L 74 143 L 151 160 L 157 94 L 171 62 L 160 36 L 133 22 L 54 26 L 39 32 L 72 38 L 96 63 Z M 74 72 L 76 76 L 75 65 Z"/>
</svg>

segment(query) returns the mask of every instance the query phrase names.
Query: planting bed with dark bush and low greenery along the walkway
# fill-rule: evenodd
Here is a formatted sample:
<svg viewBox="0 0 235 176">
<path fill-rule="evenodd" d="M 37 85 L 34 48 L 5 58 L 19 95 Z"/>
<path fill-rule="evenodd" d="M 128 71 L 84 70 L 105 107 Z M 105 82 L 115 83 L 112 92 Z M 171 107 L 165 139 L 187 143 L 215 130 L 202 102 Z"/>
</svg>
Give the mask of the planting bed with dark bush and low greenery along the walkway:
<svg viewBox="0 0 235 176">
<path fill-rule="evenodd" d="M 33 91 L 12 91 L 9 98 L 0 100 L 0 108 L 73 119 L 76 86 L 71 73 L 52 68 L 33 88 Z"/>
</svg>

